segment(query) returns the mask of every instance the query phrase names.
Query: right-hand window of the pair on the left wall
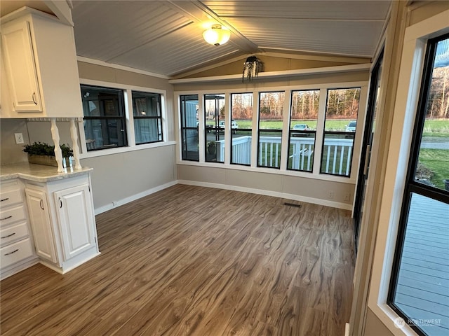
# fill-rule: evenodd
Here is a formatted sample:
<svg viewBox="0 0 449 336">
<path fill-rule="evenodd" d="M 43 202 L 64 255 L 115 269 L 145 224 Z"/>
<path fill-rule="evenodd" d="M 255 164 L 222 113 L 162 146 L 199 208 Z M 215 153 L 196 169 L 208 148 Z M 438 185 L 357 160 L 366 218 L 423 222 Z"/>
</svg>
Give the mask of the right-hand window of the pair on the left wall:
<svg viewBox="0 0 449 336">
<path fill-rule="evenodd" d="M 162 141 L 161 94 L 132 92 L 135 144 Z"/>
</svg>

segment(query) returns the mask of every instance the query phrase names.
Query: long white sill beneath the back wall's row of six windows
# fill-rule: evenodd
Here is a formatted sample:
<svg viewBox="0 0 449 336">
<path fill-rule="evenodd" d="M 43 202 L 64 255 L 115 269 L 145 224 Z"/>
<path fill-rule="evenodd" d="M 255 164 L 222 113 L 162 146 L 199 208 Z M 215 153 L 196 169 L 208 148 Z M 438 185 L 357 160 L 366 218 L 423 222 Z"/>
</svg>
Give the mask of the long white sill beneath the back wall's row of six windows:
<svg viewBox="0 0 449 336">
<path fill-rule="evenodd" d="M 335 176 L 330 174 L 312 174 L 307 172 L 295 172 L 293 170 L 281 170 L 275 168 L 264 168 L 264 167 L 249 167 L 243 165 L 226 165 L 224 163 L 211 163 L 211 162 L 195 162 L 195 161 L 182 161 L 177 160 L 177 165 L 186 165 L 186 166 L 196 166 L 196 167 L 208 167 L 208 168 L 221 168 L 221 169 L 233 169 L 233 170 L 242 170 L 245 172 L 255 172 L 255 173 L 264 173 L 264 174 L 279 174 L 279 175 L 287 175 L 287 176 L 295 176 L 302 177 L 306 179 L 316 179 L 323 181 L 332 181 L 339 183 L 348 183 L 355 184 L 355 178 L 348 178 L 342 176 Z"/>
</svg>

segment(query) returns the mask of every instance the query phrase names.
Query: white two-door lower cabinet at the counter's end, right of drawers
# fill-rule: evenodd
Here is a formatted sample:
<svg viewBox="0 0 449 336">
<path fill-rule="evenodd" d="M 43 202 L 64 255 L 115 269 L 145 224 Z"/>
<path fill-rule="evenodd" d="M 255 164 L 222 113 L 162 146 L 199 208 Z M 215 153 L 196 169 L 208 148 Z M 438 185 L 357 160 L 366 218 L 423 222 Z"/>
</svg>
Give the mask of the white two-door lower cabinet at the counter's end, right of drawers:
<svg viewBox="0 0 449 336">
<path fill-rule="evenodd" d="M 99 254 L 90 176 L 27 182 L 25 194 L 43 265 L 65 273 Z"/>
</svg>

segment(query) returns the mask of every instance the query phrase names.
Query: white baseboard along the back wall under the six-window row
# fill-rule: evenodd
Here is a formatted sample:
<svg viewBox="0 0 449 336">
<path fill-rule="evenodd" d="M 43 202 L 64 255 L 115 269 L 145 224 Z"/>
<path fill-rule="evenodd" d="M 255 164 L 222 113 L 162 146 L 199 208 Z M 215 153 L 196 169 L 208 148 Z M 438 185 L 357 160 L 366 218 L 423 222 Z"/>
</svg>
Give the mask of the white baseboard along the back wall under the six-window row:
<svg viewBox="0 0 449 336">
<path fill-rule="evenodd" d="M 333 202 L 333 201 L 329 201 L 329 200 L 321 200 L 319 198 L 293 195 L 293 194 L 288 194 L 288 193 L 279 193 L 277 191 L 272 191 L 272 190 L 262 190 L 262 189 L 246 188 L 246 187 L 239 187 L 239 186 L 229 186 L 228 184 L 189 181 L 189 180 L 177 180 L 177 183 L 185 184 L 187 186 L 198 186 L 198 187 L 225 189 L 225 190 L 235 190 L 235 191 L 241 191 L 243 193 L 273 196 L 273 197 L 285 198 L 286 200 L 295 200 L 295 201 L 299 201 L 299 202 L 324 205 L 326 207 L 332 207 L 332 208 L 337 208 L 337 209 L 352 210 L 352 204 Z"/>
</svg>

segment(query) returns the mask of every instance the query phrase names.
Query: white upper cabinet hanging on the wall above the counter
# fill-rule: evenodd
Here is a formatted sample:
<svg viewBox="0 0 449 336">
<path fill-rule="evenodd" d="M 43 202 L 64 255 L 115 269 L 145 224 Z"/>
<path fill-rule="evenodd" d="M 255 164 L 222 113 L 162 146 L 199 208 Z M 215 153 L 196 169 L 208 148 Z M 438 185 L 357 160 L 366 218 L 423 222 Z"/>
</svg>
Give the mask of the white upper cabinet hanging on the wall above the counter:
<svg viewBox="0 0 449 336">
<path fill-rule="evenodd" d="M 11 101 L 11 106 L 2 104 L 1 117 L 81 118 L 73 27 L 32 8 L 8 14 L 1 22 L 8 82 L 2 94 Z"/>
</svg>

